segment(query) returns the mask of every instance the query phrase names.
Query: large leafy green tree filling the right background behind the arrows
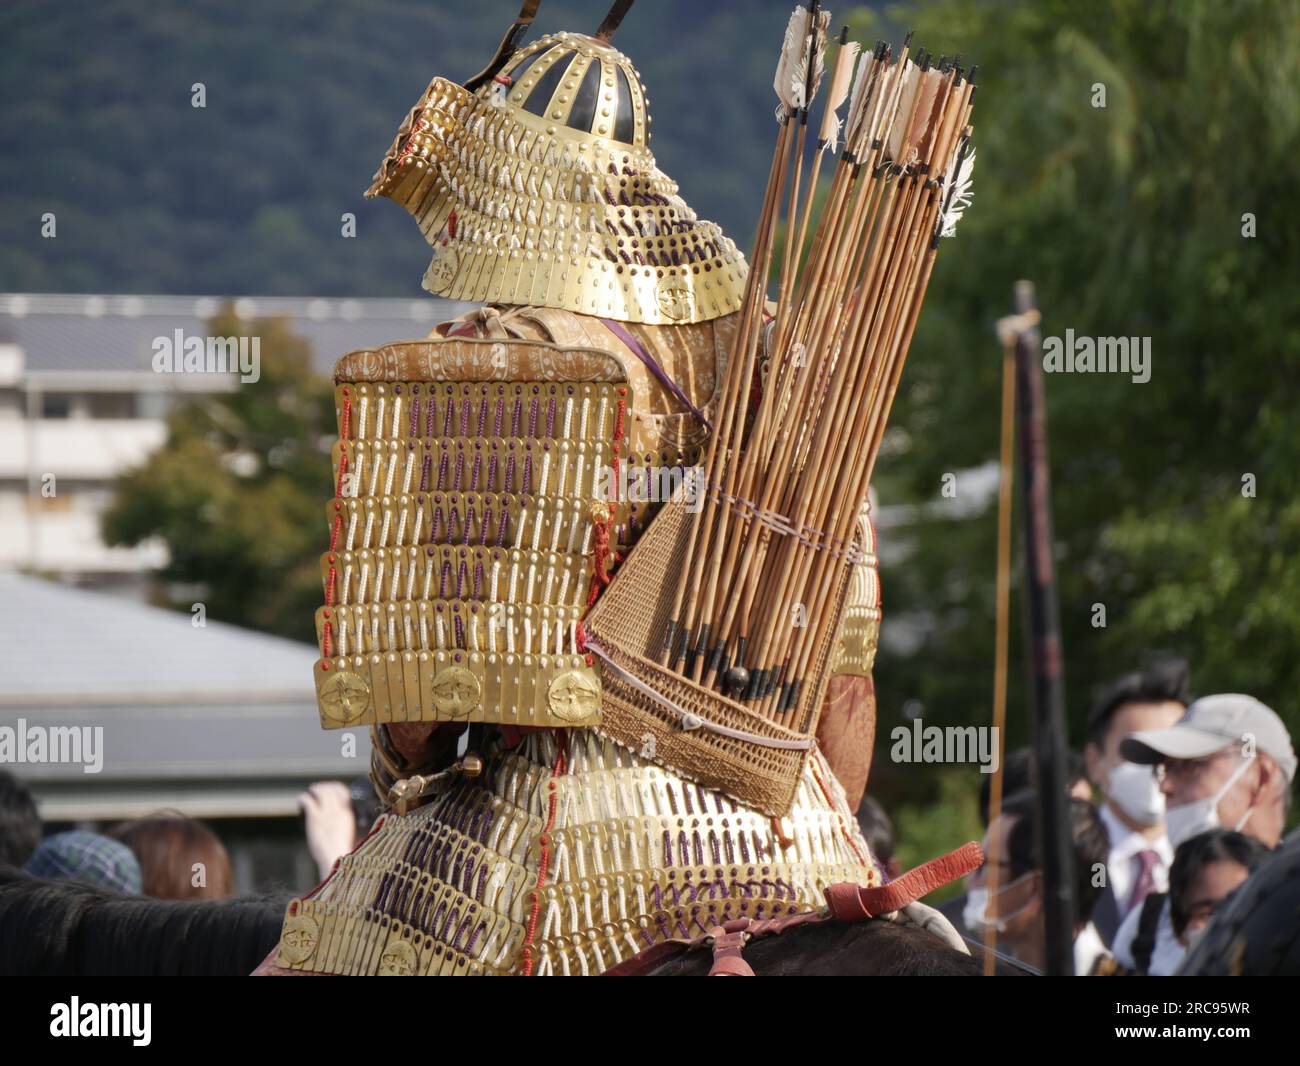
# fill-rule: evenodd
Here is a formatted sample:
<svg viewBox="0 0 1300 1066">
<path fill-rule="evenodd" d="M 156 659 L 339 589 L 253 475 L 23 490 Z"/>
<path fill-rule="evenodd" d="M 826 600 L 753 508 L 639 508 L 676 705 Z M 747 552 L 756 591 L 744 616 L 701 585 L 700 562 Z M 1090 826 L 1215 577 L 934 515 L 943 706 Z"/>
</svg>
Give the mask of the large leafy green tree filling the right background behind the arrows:
<svg viewBox="0 0 1300 1066">
<path fill-rule="evenodd" d="M 1147 384 L 1046 377 L 1074 745 L 1096 686 L 1162 654 L 1300 736 L 1297 5 L 932 0 L 905 17 L 979 62 L 978 161 L 878 467 L 884 504 L 919 506 L 883 536 L 874 781 L 918 776 L 884 746 L 909 701 L 927 723 L 989 720 L 996 499 L 935 504 L 945 472 L 996 459 L 992 326 L 1022 277 L 1045 337 L 1150 338 Z M 890 646 L 890 625 L 916 641 Z"/>
</svg>

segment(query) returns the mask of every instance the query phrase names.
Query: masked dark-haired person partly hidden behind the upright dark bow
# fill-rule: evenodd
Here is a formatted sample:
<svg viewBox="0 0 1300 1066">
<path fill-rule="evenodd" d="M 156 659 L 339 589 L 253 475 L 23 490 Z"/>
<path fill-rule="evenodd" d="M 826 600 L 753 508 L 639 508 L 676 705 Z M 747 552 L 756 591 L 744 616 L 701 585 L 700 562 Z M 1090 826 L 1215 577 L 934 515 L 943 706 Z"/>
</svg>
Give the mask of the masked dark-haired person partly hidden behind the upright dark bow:
<svg viewBox="0 0 1300 1066">
<path fill-rule="evenodd" d="M 1018 792 L 1002 803 L 988 827 L 984 853 L 988 861 L 967 879 L 965 924 L 983 937 L 984 927 L 997 930 L 998 948 L 1020 962 L 1041 970 L 1045 962 L 1043 924 L 1043 863 L 1037 854 L 1032 792 Z M 1106 831 L 1096 809 L 1086 800 L 1070 798 L 1070 838 L 1074 849 L 1075 974 L 1087 974 L 1105 954 L 1092 911 L 1101 897 L 1095 871 L 1106 861 Z M 988 889 L 989 866 L 996 864 L 997 888 Z"/>
</svg>

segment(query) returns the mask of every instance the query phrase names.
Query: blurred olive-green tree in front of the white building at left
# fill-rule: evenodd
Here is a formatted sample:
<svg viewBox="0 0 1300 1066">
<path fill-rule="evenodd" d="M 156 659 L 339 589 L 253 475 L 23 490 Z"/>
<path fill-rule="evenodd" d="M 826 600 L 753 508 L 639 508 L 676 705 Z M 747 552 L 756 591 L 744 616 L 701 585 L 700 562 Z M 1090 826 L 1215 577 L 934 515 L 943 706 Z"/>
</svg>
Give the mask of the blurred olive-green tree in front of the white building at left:
<svg viewBox="0 0 1300 1066">
<path fill-rule="evenodd" d="M 104 538 L 161 538 L 170 563 L 160 577 L 195 589 L 173 606 L 199 599 L 209 618 L 309 641 L 322 595 L 330 384 L 283 320 L 242 322 L 226 308 L 209 333 L 259 337 L 260 380 L 177 404 L 164 446 L 118 480 Z"/>
</svg>

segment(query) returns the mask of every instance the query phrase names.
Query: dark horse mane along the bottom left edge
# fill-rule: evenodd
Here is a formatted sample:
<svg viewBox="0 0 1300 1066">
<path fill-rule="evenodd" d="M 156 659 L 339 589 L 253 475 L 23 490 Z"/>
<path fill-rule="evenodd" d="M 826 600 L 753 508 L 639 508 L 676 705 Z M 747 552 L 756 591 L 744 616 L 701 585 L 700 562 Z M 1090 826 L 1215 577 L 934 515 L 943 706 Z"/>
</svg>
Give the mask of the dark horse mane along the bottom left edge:
<svg viewBox="0 0 1300 1066">
<path fill-rule="evenodd" d="M 290 898 L 151 900 L 0 864 L 0 974 L 243 976 L 278 942 Z"/>
</svg>

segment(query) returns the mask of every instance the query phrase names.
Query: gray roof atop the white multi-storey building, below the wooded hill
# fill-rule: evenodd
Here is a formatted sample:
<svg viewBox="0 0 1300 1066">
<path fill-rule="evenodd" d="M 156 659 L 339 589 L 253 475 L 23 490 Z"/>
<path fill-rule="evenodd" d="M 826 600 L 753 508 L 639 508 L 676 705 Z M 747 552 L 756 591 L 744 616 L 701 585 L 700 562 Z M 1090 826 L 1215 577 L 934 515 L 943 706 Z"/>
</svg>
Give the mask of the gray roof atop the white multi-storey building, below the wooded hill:
<svg viewBox="0 0 1300 1066">
<path fill-rule="evenodd" d="M 36 373 L 151 373 L 153 339 L 207 335 L 207 320 L 230 300 L 244 318 L 286 317 L 330 372 L 343 355 L 424 337 L 472 304 L 436 296 L 318 299 L 312 296 L 103 296 L 0 294 L 0 337 L 26 354 Z"/>
</svg>

